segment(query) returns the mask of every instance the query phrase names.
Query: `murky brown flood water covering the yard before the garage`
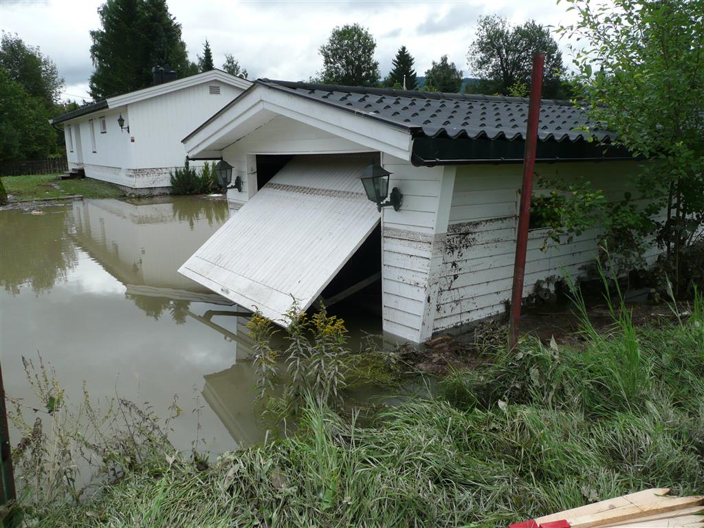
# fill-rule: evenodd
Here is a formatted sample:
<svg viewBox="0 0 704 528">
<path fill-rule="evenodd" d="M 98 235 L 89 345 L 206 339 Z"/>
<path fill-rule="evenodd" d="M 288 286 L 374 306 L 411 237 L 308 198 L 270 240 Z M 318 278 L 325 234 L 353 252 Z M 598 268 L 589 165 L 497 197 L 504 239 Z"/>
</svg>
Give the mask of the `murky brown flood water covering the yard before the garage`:
<svg viewBox="0 0 704 528">
<path fill-rule="evenodd" d="M 40 354 L 73 403 L 86 382 L 93 398 L 163 417 L 177 395 L 176 448 L 196 437 L 210 453 L 261 441 L 246 311 L 177 272 L 227 216 L 225 201 L 191 197 L 0 211 L 0 359 L 27 422 L 41 406 L 22 357 Z M 351 346 L 381 332 L 379 315 L 354 301 L 334 308 Z"/>
</svg>

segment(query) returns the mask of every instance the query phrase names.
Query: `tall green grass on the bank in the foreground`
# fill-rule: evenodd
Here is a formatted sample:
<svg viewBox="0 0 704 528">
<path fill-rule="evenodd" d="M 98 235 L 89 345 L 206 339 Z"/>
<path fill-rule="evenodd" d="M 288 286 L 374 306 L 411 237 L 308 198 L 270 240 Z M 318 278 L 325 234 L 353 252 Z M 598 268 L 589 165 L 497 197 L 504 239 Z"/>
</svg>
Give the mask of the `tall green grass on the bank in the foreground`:
<svg viewBox="0 0 704 528">
<path fill-rule="evenodd" d="M 704 493 L 704 298 L 691 315 L 456 372 L 365 426 L 313 398 L 296 434 L 198 470 L 155 449 L 35 526 L 458 527 L 511 522 L 649 487 Z"/>
</svg>

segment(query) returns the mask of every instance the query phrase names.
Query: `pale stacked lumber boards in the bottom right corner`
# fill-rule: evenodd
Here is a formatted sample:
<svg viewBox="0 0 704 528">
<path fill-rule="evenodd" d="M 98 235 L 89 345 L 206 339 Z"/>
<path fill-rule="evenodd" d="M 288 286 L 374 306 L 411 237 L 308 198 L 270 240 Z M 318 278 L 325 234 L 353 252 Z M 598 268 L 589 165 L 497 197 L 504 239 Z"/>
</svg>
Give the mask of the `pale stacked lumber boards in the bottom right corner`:
<svg viewBox="0 0 704 528">
<path fill-rule="evenodd" d="M 653 488 L 511 524 L 509 528 L 704 528 L 704 496 Z"/>
</svg>

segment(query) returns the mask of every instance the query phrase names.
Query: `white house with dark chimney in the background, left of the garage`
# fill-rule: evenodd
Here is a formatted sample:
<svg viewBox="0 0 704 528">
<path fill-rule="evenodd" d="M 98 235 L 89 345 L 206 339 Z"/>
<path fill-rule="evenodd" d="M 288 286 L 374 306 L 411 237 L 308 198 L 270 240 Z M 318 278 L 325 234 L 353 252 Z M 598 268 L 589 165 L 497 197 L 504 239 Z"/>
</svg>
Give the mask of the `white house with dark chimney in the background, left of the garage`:
<svg viewBox="0 0 704 528">
<path fill-rule="evenodd" d="M 158 73 L 155 68 L 156 82 L 163 79 Z M 69 170 L 134 194 L 158 194 L 168 191 L 169 172 L 183 166 L 184 135 L 249 86 L 211 70 L 101 99 L 51 124 L 63 128 Z"/>
</svg>

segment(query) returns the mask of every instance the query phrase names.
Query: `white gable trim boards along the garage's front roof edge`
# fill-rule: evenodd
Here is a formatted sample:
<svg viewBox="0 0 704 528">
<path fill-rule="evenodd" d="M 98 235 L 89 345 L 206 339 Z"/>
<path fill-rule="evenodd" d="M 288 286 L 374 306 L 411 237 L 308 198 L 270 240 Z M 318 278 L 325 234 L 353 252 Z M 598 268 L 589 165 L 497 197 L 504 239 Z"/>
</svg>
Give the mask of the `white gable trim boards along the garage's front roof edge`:
<svg viewBox="0 0 704 528">
<path fill-rule="evenodd" d="M 413 127 L 390 126 L 319 101 L 257 82 L 183 139 L 189 158 L 216 157 L 262 125 L 282 115 L 337 137 L 410 160 Z"/>
</svg>

